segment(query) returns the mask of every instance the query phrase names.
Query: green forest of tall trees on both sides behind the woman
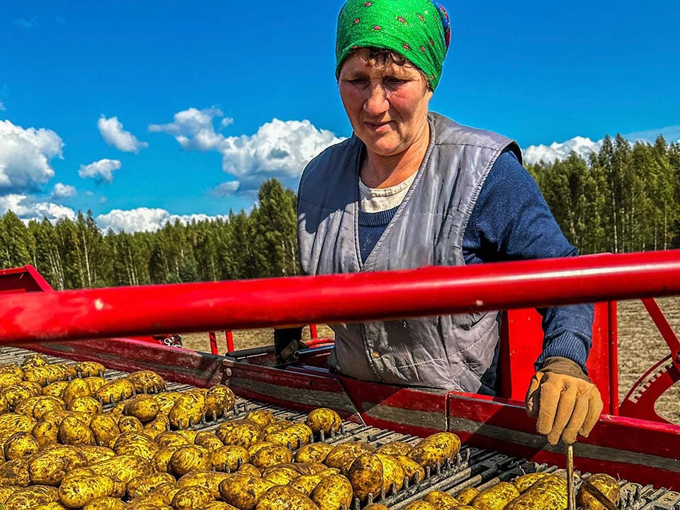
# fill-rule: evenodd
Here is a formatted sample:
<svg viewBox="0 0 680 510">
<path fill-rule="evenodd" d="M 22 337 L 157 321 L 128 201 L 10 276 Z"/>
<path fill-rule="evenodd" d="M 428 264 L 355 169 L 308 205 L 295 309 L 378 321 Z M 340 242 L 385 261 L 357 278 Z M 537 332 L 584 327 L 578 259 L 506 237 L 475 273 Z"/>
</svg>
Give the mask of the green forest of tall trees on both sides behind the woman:
<svg viewBox="0 0 680 510">
<path fill-rule="evenodd" d="M 680 246 L 680 142 L 606 137 L 586 159 L 527 166 L 567 239 L 582 254 Z M 57 290 L 292 276 L 299 272 L 295 192 L 264 182 L 248 213 L 167 223 L 157 232 L 102 232 L 76 220 L 0 217 L 0 266 L 33 264 Z"/>
</svg>

